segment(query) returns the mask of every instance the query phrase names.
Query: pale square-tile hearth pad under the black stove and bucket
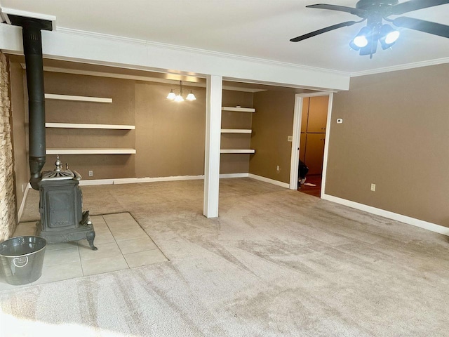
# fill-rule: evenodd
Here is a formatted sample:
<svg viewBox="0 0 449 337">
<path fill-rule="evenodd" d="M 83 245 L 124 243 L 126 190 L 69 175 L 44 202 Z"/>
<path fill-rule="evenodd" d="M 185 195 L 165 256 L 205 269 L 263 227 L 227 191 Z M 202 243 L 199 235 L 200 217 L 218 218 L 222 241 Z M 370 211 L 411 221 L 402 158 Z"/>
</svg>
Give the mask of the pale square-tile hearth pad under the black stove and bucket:
<svg viewBox="0 0 449 337">
<path fill-rule="evenodd" d="M 74 277 L 101 274 L 168 261 L 130 213 L 91 216 L 95 229 L 93 251 L 86 239 L 78 242 L 47 244 L 42 276 L 32 284 L 43 284 Z M 36 222 L 20 223 L 14 237 L 34 235 Z M 29 286 L 32 284 L 26 284 Z M 17 288 L 0 276 L 0 291 Z"/>
</svg>

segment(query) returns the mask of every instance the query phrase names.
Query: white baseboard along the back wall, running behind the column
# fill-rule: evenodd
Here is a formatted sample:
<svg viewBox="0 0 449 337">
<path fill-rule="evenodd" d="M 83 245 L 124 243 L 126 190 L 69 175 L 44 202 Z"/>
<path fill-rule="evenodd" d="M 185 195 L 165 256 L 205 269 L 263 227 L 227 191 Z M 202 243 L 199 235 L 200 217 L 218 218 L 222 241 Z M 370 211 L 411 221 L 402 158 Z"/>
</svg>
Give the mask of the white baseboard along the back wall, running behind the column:
<svg viewBox="0 0 449 337">
<path fill-rule="evenodd" d="M 245 178 L 249 173 L 224 173 L 220 174 L 220 178 Z M 178 181 L 178 180 L 200 180 L 204 179 L 204 175 L 199 176 L 170 176 L 156 178 L 119 178 L 119 179 L 91 179 L 79 180 L 79 185 L 120 185 L 120 184 L 137 184 L 137 183 L 155 183 L 158 181 Z"/>
</svg>

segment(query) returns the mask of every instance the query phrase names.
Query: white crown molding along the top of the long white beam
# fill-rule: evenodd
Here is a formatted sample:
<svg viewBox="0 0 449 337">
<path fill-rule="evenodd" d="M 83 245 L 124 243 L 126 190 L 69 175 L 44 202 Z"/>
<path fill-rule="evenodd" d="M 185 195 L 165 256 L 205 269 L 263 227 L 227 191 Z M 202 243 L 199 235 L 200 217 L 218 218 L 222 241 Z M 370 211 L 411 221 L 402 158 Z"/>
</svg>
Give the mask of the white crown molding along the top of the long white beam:
<svg viewBox="0 0 449 337">
<path fill-rule="evenodd" d="M 254 58 L 251 56 L 222 53 L 219 51 L 208 51 L 206 49 L 201 49 L 201 48 L 177 46 L 177 45 L 173 45 L 173 44 L 164 44 L 162 42 L 146 41 L 146 40 L 142 40 L 142 39 L 133 39 L 133 38 L 129 38 L 129 37 L 119 37 L 116 35 L 96 33 L 96 32 L 87 32 L 87 31 L 83 31 L 83 30 L 79 30 L 79 29 L 58 27 L 56 29 L 56 31 L 60 32 L 60 33 L 65 33 L 65 34 L 80 35 L 83 37 L 93 37 L 96 39 L 107 39 L 107 40 L 111 40 L 111 41 L 121 41 L 121 42 L 130 43 L 130 44 L 140 44 L 140 45 L 170 49 L 170 50 L 175 50 L 175 51 L 199 53 L 202 55 L 217 56 L 220 58 L 229 58 L 232 60 L 241 60 L 241 61 L 243 60 L 246 62 L 258 62 L 258 63 L 262 63 L 262 64 L 263 63 L 267 64 L 267 65 L 277 65 L 280 67 L 290 67 L 290 68 L 295 68 L 295 69 L 300 69 L 300 70 L 308 70 L 311 72 L 323 72 L 323 73 L 327 73 L 327 74 L 340 74 L 343 76 L 350 76 L 349 72 L 342 72 L 339 70 L 330 70 L 330 69 L 325 69 L 325 68 L 320 68 L 320 67 L 309 67 L 306 65 L 296 65 L 294 63 L 280 62 L 280 61 L 275 61 L 275 60 L 267 60 L 264 58 Z"/>
</svg>

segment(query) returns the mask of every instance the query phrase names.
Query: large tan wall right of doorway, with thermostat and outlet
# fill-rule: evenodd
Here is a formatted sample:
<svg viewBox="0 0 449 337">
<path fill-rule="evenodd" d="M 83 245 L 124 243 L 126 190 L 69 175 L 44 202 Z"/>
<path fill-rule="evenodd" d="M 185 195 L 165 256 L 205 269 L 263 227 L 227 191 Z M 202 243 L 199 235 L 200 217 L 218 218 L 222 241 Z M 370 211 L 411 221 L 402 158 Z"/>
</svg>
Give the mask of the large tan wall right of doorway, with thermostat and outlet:
<svg viewBox="0 0 449 337">
<path fill-rule="evenodd" d="M 449 227 L 448 78 L 449 64 L 434 65 L 336 93 L 326 194 Z"/>
</svg>

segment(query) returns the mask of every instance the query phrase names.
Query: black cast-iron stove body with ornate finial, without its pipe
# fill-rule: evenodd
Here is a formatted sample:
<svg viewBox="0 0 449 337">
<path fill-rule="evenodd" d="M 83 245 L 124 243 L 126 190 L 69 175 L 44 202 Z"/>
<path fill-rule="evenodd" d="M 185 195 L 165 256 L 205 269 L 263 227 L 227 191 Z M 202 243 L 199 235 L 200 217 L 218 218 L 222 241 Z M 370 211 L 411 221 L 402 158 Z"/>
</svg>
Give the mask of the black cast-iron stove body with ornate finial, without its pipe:
<svg viewBox="0 0 449 337">
<path fill-rule="evenodd" d="M 91 249 L 95 231 L 89 211 L 83 213 L 83 194 L 79 188 L 81 176 L 76 171 L 62 171 L 59 156 L 54 171 L 43 172 L 39 187 L 41 221 L 36 234 L 49 244 L 87 239 Z"/>
</svg>

